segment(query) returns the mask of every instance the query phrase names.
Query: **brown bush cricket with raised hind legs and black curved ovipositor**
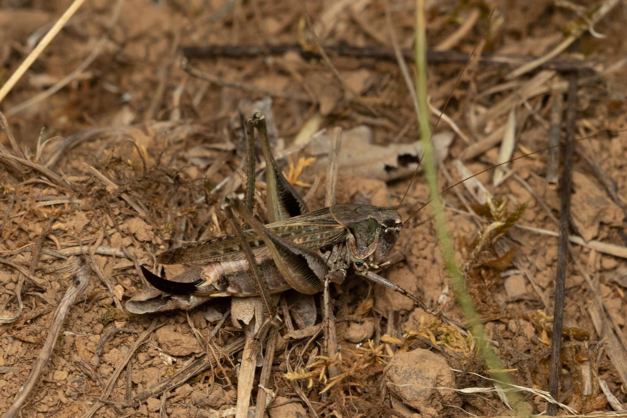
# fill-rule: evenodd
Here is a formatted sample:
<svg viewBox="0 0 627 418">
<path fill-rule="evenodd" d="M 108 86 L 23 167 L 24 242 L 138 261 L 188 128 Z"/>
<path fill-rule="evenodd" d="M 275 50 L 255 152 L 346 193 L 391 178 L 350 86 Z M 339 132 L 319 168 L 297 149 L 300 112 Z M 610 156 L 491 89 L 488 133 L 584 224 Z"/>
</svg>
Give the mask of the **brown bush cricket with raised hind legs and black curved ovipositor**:
<svg viewBox="0 0 627 418">
<path fill-rule="evenodd" d="M 270 223 L 266 225 L 252 215 L 255 128 L 267 169 Z M 429 311 L 416 296 L 370 271 L 389 264 L 382 261 L 394 248 L 403 227 L 396 210 L 365 204 L 335 204 L 308 211 L 305 201 L 278 169 L 261 113 L 246 123 L 246 149 L 246 206 L 234 194 L 229 194 L 224 204 L 234 234 L 186 244 L 161 254 L 162 264 L 197 267 L 174 280 L 161 278 L 142 267 L 150 285 L 170 295 L 262 296 L 270 314 L 266 321 L 280 325 L 271 294 L 293 288 L 313 295 L 322 290 L 325 280 L 341 283 L 352 268 L 354 273 L 407 296 Z M 250 229 L 242 231 L 233 212 Z"/>
</svg>

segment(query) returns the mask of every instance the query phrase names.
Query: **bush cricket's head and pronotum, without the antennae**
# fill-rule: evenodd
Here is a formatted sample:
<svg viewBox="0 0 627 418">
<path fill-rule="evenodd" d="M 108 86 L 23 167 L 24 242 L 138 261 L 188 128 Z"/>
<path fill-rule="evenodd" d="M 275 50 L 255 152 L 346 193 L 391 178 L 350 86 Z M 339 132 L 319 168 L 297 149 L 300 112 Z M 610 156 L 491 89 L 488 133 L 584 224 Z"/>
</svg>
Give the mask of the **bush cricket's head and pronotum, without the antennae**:
<svg viewBox="0 0 627 418">
<path fill-rule="evenodd" d="M 379 263 L 392 251 L 401 232 L 401 215 L 388 207 L 341 204 L 331 206 L 330 212 L 349 231 L 352 261 Z"/>
</svg>

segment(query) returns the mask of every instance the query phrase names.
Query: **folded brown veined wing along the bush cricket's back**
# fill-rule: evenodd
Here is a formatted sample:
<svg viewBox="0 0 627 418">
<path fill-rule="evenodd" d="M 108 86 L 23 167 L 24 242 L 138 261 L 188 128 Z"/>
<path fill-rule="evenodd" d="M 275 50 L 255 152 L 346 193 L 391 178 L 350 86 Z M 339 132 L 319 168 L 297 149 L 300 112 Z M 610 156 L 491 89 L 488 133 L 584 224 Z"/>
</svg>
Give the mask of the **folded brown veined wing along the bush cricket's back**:
<svg viewBox="0 0 627 418">
<path fill-rule="evenodd" d="M 339 243 L 346 238 L 346 228 L 333 219 L 328 207 L 267 224 L 266 227 L 282 238 L 312 249 Z M 253 251 L 266 246 L 252 229 L 246 229 L 244 235 Z M 223 235 L 170 249 L 159 256 L 159 263 L 206 264 L 245 257 L 235 236 Z"/>
</svg>

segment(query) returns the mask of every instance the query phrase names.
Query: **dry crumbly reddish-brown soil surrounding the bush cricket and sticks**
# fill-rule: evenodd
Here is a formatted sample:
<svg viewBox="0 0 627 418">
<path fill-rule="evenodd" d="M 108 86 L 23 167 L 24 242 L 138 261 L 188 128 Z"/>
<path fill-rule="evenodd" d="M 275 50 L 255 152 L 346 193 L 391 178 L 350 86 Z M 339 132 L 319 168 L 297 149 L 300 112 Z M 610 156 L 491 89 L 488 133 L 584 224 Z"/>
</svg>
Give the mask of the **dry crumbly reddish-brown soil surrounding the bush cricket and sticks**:
<svg viewBox="0 0 627 418">
<path fill-rule="evenodd" d="M 0 83 L 70 3 L 0 0 Z M 244 160 L 238 110 L 246 117 L 253 108 L 264 108 L 268 117 L 271 112 L 270 127 L 275 130 L 271 139 L 277 154 L 304 144 L 322 128 L 327 128 L 329 137 L 332 128 L 344 128 L 344 136 L 354 138 L 353 145 L 343 150 L 352 157 L 342 162 L 337 201 L 393 207 L 415 167 L 411 152 L 403 147 L 413 147 L 418 138 L 416 114 L 394 60 L 330 53 L 342 83 L 324 61 L 293 49 L 273 56 L 190 58 L 189 66 L 197 75 L 205 74 L 204 80 L 181 69 L 183 46 L 300 43 L 312 48 L 314 41 L 304 29 L 299 2 L 129 0 L 112 21 L 116 4 L 87 1 L 1 105 L 19 149 L 12 149 L 5 133 L 0 133 L 0 144 L 14 155 L 24 155 L 35 167 L 46 165 L 57 176 L 23 163 L 13 164 L 17 167 L 13 171 L 0 164 L 0 221 L 6 219 L 0 227 L 0 314 L 4 318 L 0 325 L 0 411 L 9 407 L 26 382 L 48 337 L 55 306 L 71 286 L 71 274 L 59 268 L 70 265 L 71 259 L 83 258 L 83 249 L 87 263 L 99 268 L 100 274 L 92 274 L 87 290 L 66 316 L 63 332 L 22 416 L 82 416 L 103 399 L 105 386 L 114 370 L 125 367 L 122 361 L 127 356 L 129 367 L 112 381 L 112 391 L 104 399 L 107 403 L 95 416 L 219 416 L 212 409 L 230 416 L 228 410 L 236 404 L 241 352 L 222 361 L 221 367 L 169 387 L 166 395 L 134 400 L 195 357 L 219 355 L 219 347 L 241 338 L 243 332 L 231 320 L 219 322 L 230 305 L 224 299 L 187 313 L 128 315 L 117 310 L 118 301 L 124 305 L 142 290 L 134 263 L 122 250 L 152 267 L 155 254 L 164 249 L 228 231 L 219 205 L 227 192 L 241 191 L 241 177 L 233 170 L 237 165 L 243 168 Z M 428 1 L 428 43 L 435 48 L 450 41 L 445 50 L 469 53 L 495 9 L 475 58 L 488 53 L 541 56 L 574 33 L 577 24 L 585 25 L 599 4 L 582 0 Z M 604 4 L 614 8 L 593 31 L 584 32 L 578 43 L 579 58 L 594 63 L 598 72 L 581 78 L 577 137 L 618 131 L 627 125 L 624 4 Z M 347 41 L 391 51 L 381 1 L 307 1 L 307 7 L 323 44 Z M 403 48 L 413 44 L 414 10 L 412 1 L 391 1 L 393 28 Z M 469 19 L 476 21 L 464 30 Z M 91 59 L 90 54 L 95 55 L 93 62 L 60 91 L 21 106 Z M 442 107 L 455 86 L 462 64 L 429 63 L 428 93 L 435 108 Z M 504 127 L 510 110 L 517 118 L 514 155 L 547 146 L 552 108 L 567 78 L 551 68 L 506 78 L 516 66 L 477 59 L 468 64 L 446 108 L 446 115 L 466 140 L 455 135 L 452 144 L 444 147 L 448 156 L 443 167 L 450 170 L 451 179 L 440 170 L 440 187 L 460 177 L 453 161 L 473 143 Z M 412 65 L 409 68 L 413 71 Z M 539 81 L 530 86 L 532 80 Z M 259 99 L 265 102 L 245 102 Z M 436 118 L 434 112 L 432 124 Z M 357 131 L 351 131 L 356 127 Z M 449 132 L 450 123 L 441 120 L 436 135 L 452 137 Z M 314 146 L 320 139 L 319 135 L 280 160 L 303 194 L 310 191 L 310 184 L 319 184 L 310 196 L 310 208 L 324 201 L 326 164 L 303 169 L 306 164 L 299 165 L 298 159 L 314 155 L 322 161 L 324 149 L 320 154 Z M 317 146 L 328 142 L 328 137 L 322 137 Z M 498 145 L 488 148 L 465 160 L 470 172 L 488 168 L 497 159 Z M 608 133 L 578 142 L 576 149 L 571 234 L 582 237 L 585 245 L 582 241 L 572 244 L 574 258 L 567 263 L 559 399 L 577 412 L 589 413 L 618 409 L 627 401 L 627 385 L 624 380 L 621 384 L 621 370 L 625 379 L 627 367 L 627 138 L 624 133 Z M 382 164 L 386 150 L 389 154 Z M 497 187 L 492 185 L 493 172 L 477 177 L 493 196 L 508 199 L 508 211 L 529 202 L 517 227 L 497 245 L 483 248 L 478 258 L 472 256 L 473 241 L 489 222 L 485 217 L 475 222 L 453 192 L 443 197 L 452 208 L 446 216 L 456 255 L 466 266 L 466 285 L 488 337 L 495 342 L 492 347 L 502 367 L 511 369 L 510 379 L 538 390 L 548 388 L 557 238 L 519 226 L 557 231 L 552 217 L 559 216 L 559 187 L 547 182 L 546 154 L 510 164 Z M 598 165 L 597 172 L 584 156 Z M 263 174 L 258 180 L 263 199 Z M 524 184 L 529 184 L 530 191 Z M 608 184 L 614 185 L 614 196 Z M 466 201 L 475 202 L 466 188 L 458 187 L 458 192 Z M 9 202 L 11 196 L 14 204 Z M 403 219 L 427 196 L 424 178 L 418 175 L 399 209 Z M 476 191 L 475 196 L 485 194 Z M 263 210 L 259 212 L 263 218 Z M 382 274 L 464 325 L 430 215 L 426 207 L 404 227 L 396 245 L 400 261 Z M 512 246 L 515 254 L 499 258 Z M 623 258 L 608 251 L 622 251 Z M 168 277 L 178 271 L 179 266 L 166 268 Z M 23 310 L 11 320 L 18 311 L 16 291 L 21 282 Z M 407 298 L 372 288 L 357 278 L 347 278 L 331 293 L 342 357 L 314 358 L 320 354 L 322 334 L 315 340 L 279 338 L 265 385 L 271 391 L 266 416 L 512 414 L 495 392 L 424 389 L 492 387 L 488 380 L 468 373 L 489 375 L 472 339 L 431 321 Z M 286 296 L 289 303 L 295 295 Z M 603 303 L 604 311 L 595 298 Z M 314 300 L 317 313 L 307 309 L 297 313 L 298 306 L 292 306 L 292 321 L 281 330 L 282 335 L 312 323 L 313 318 L 305 318 L 307 313 L 314 313 L 314 322 L 320 323 L 320 298 Z M 154 320 L 161 327 L 130 352 Z M 109 332 L 113 328 L 124 330 Z M 613 337 L 599 344 L 608 332 Z M 416 351 L 425 349 L 430 352 Z M 305 368 L 306 364 L 310 367 Z M 329 366 L 342 374 L 321 394 L 330 383 Z M 288 370 L 294 374 L 286 376 Z M 606 402 L 599 382 L 616 397 L 613 404 Z M 258 390 L 255 383 L 253 404 Z M 545 409 L 541 397 L 524 395 L 534 412 Z"/>
</svg>

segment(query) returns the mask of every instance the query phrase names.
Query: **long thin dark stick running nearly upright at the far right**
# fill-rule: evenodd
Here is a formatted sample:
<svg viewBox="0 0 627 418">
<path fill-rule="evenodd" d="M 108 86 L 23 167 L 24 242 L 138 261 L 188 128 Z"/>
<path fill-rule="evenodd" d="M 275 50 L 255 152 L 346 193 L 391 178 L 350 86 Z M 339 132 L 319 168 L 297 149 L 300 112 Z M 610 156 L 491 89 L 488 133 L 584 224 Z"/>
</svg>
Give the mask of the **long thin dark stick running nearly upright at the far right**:
<svg viewBox="0 0 627 418">
<path fill-rule="evenodd" d="M 566 258 L 568 253 L 568 226 L 571 216 L 571 184 L 573 140 L 575 138 L 575 117 L 577 113 L 577 73 L 569 75 L 568 107 L 566 110 L 566 146 L 564 148 L 564 171 L 561 183 L 561 207 L 559 211 L 559 239 L 557 247 L 557 274 L 555 284 L 555 308 L 553 321 L 553 338 L 551 354 L 551 371 L 549 372 L 549 392 L 557 399 L 559 375 L 562 370 L 562 320 L 564 316 L 564 284 L 566 282 Z M 557 405 L 550 403 L 547 414 L 557 414 Z"/>
</svg>

